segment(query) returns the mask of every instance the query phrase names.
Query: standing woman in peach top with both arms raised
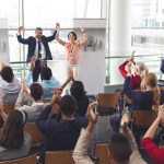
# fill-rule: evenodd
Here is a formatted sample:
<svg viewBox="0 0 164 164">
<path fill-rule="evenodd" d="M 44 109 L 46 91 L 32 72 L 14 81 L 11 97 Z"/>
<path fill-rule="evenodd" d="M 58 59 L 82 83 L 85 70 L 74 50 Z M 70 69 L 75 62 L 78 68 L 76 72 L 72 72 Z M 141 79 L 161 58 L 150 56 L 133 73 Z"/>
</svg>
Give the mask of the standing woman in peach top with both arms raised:
<svg viewBox="0 0 164 164">
<path fill-rule="evenodd" d="M 67 60 L 68 72 L 69 70 L 72 70 L 73 77 L 77 80 L 79 78 L 79 48 L 87 40 L 87 35 L 84 28 L 81 28 L 82 38 L 80 40 L 77 40 L 77 34 L 74 32 L 70 32 L 68 34 L 69 42 L 65 42 L 59 38 L 60 24 L 57 23 L 56 27 L 57 27 L 56 39 L 59 44 L 65 46 L 65 49 L 66 49 L 66 60 Z"/>
</svg>

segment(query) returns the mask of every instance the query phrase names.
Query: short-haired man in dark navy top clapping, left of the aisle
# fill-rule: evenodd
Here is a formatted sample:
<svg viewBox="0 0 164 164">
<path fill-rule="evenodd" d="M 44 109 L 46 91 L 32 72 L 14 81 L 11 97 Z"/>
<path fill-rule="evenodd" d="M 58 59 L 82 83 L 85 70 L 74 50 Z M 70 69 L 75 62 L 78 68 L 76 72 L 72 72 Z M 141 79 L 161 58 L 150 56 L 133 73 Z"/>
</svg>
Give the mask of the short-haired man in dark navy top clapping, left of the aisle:
<svg viewBox="0 0 164 164">
<path fill-rule="evenodd" d="M 44 143 L 40 162 L 44 163 L 45 151 L 63 151 L 72 150 L 80 136 L 81 128 L 86 127 L 86 118 L 75 118 L 75 99 L 70 95 L 65 95 L 59 99 L 60 91 L 54 94 L 54 99 L 59 104 L 61 119 L 48 119 L 51 108 L 47 107 L 40 114 L 36 125 L 45 134 L 46 142 Z"/>
</svg>

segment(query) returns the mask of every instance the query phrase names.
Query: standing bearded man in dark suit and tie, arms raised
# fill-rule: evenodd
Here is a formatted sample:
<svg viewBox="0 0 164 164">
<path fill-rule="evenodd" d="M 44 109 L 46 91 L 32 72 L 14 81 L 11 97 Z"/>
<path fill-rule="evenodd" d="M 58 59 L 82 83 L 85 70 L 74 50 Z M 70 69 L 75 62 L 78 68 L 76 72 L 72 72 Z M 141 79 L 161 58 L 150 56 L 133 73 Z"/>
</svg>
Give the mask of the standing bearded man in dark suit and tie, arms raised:
<svg viewBox="0 0 164 164">
<path fill-rule="evenodd" d="M 22 38 L 22 31 L 23 26 L 17 27 L 17 40 L 21 44 L 28 45 L 26 61 L 30 62 L 31 59 L 35 60 L 33 82 L 36 82 L 43 63 L 46 62 L 46 60 L 52 60 L 48 43 L 55 39 L 57 31 L 55 31 L 51 36 L 45 36 L 43 35 L 43 28 L 36 27 L 35 36 L 30 36 L 28 38 Z"/>
</svg>

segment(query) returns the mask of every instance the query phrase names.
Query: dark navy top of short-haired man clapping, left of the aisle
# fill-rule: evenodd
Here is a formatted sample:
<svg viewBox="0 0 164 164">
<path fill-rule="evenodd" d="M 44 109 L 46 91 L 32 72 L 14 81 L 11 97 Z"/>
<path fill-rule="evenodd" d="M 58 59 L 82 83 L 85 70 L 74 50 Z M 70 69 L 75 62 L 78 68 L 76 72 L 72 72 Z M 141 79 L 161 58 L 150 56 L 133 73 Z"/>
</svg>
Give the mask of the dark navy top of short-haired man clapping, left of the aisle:
<svg viewBox="0 0 164 164">
<path fill-rule="evenodd" d="M 81 129 L 86 128 L 89 122 L 87 118 L 82 117 L 72 120 L 50 119 L 49 114 L 51 110 L 51 106 L 46 106 L 36 121 L 38 129 L 46 137 L 46 142 L 40 150 L 42 163 L 44 163 L 45 151 L 73 150 Z"/>
</svg>

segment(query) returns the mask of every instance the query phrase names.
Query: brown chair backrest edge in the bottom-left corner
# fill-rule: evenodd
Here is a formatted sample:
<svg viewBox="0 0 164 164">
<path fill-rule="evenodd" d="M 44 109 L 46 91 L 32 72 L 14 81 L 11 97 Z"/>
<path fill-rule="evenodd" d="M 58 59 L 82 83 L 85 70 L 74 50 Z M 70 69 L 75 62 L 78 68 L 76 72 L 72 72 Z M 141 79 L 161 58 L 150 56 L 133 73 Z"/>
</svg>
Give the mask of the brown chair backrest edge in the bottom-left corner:
<svg viewBox="0 0 164 164">
<path fill-rule="evenodd" d="M 37 164 L 36 154 L 20 157 L 16 160 L 2 161 L 0 164 Z"/>
</svg>

